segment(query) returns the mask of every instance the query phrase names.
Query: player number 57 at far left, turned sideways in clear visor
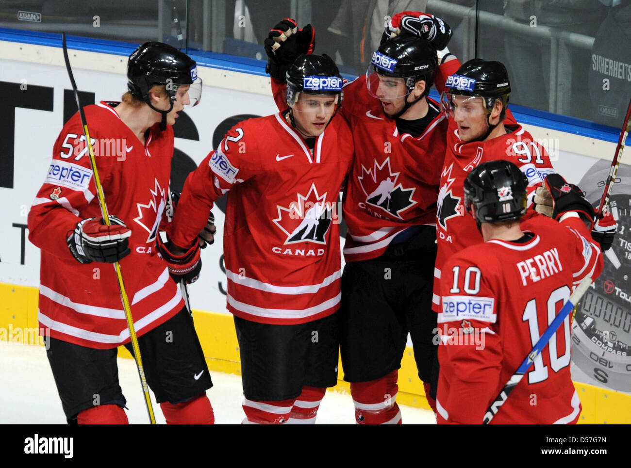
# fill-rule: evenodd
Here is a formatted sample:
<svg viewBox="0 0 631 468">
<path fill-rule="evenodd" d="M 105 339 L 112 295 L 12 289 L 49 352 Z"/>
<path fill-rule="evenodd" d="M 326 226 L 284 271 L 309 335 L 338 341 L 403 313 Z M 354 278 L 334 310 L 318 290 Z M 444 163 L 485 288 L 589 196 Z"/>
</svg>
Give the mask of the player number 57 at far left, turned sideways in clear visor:
<svg viewBox="0 0 631 468">
<path fill-rule="evenodd" d="M 156 250 L 174 151 L 171 126 L 178 112 L 201 96 L 196 74 L 186 54 L 147 42 L 129 57 L 129 91 L 122 102 L 85 107 L 105 202 L 116 215 L 109 216 L 110 226 L 100 217 L 79 113 L 59 134 L 28 215 L 28 237 L 41 249 L 38 318 L 50 331 L 47 355 L 69 423 L 127 423 L 116 355 L 117 346 L 130 351 L 131 346 L 118 281 L 108 264 L 116 261 L 146 380 L 167 423 L 214 420 L 204 354 L 169 276 L 179 272 L 192 281 L 201 267 L 198 247 L 171 259 Z"/>
</svg>

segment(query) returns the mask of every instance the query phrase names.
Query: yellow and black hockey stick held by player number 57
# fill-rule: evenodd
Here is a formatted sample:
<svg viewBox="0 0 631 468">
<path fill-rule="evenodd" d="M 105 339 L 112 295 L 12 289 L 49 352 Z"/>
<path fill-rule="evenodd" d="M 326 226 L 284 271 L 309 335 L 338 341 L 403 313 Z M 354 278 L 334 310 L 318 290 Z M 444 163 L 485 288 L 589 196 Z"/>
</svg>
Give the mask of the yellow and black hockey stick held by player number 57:
<svg viewBox="0 0 631 468">
<path fill-rule="evenodd" d="M 94 183 L 97 187 L 98 204 L 101 208 L 103 215 L 103 221 L 106 226 L 110 226 L 109 214 L 107 212 L 107 204 L 105 204 L 105 196 L 103 195 L 103 186 L 101 180 L 98 177 L 97 160 L 95 160 L 94 151 L 92 149 L 92 143 L 90 141 L 90 132 L 88 131 L 88 122 L 85 119 L 85 113 L 81 102 L 79 100 L 79 91 L 77 85 L 74 82 L 73 69 L 70 66 L 70 59 L 68 58 L 68 47 L 66 46 L 66 33 L 62 33 L 62 47 L 64 49 L 64 61 L 66 61 L 66 70 L 68 70 L 68 76 L 70 77 L 70 83 L 73 85 L 74 98 L 79 108 L 79 115 L 81 117 L 81 125 L 83 126 L 83 134 L 85 141 L 88 144 L 88 150 L 90 153 L 90 165 L 94 174 Z M 144 377 L 143 360 L 140 357 L 140 348 L 138 346 L 138 338 L 136 338 L 136 330 L 134 329 L 134 319 L 131 316 L 131 307 L 129 305 L 129 298 L 127 298 L 127 291 L 125 290 L 125 284 L 122 281 L 121 264 L 114 262 L 114 269 L 116 271 L 116 278 L 118 278 L 119 290 L 121 291 L 121 300 L 123 308 L 125 309 L 125 317 L 127 319 L 127 327 L 129 328 L 129 336 L 131 337 L 131 346 L 134 351 L 134 357 L 136 358 L 136 366 L 138 367 L 138 375 L 140 376 L 140 382 L 143 384 L 144 401 L 147 405 L 147 411 L 149 413 L 149 419 L 151 424 L 156 423 L 155 416 L 153 415 L 153 406 L 151 406 L 151 397 L 149 395 L 149 387 L 147 385 L 146 378 Z"/>
</svg>

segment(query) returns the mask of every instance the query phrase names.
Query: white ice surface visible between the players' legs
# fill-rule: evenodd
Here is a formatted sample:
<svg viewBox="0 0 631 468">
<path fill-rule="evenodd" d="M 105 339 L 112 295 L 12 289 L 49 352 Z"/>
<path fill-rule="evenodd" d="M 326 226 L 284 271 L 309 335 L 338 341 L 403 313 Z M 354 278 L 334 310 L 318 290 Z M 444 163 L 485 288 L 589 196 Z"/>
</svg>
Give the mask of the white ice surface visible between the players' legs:
<svg viewBox="0 0 631 468">
<path fill-rule="evenodd" d="M 147 424 L 138 370 L 130 359 L 119 358 L 119 380 L 127 399 L 127 418 L 131 424 Z M 208 390 L 215 422 L 239 424 L 244 418 L 241 378 L 212 372 L 214 387 Z M 43 346 L 0 342 L 0 423 L 65 424 L 55 381 Z M 420 385 L 420 382 L 419 382 Z M 151 395 L 158 424 L 164 424 L 160 407 Z M 401 405 L 404 424 L 435 424 L 433 412 Z M 353 424 L 353 401 L 341 392 L 326 392 L 317 424 Z"/>
</svg>

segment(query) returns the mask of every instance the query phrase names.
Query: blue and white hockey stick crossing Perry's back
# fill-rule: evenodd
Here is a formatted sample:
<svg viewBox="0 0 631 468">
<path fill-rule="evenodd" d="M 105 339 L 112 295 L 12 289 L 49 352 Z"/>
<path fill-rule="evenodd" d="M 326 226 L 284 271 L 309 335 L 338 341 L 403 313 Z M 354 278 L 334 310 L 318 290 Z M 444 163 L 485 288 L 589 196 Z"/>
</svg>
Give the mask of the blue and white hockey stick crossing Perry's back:
<svg viewBox="0 0 631 468">
<path fill-rule="evenodd" d="M 517 384 L 521 381 L 522 377 L 526 375 L 526 372 L 528 372 L 530 366 L 533 365 L 534 360 L 537 358 L 537 356 L 539 356 L 543 348 L 545 348 L 546 344 L 548 344 L 548 341 L 550 341 L 552 335 L 557 332 L 558 327 L 560 327 L 560 325 L 563 323 L 565 317 L 570 315 L 570 312 L 572 312 L 572 309 L 574 309 L 574 305 L 581 299 L 582 295 L 584 295 L 585 291 L 587 291 L 587 288 L 589 288 L 589 285 L 591 283 L 591 277 L 586 276 L 582 279 L 581 283 L 576 286 L 574 293 L 570 295 L 570 298 L 565 304 L 563 304 L 563 307 L 557 313 L 557 317 L 552 320 L 552 323 L 550 324 L 550 326 L 548 326 L 546 331 L 543 332 L 543 335 L 541 335 L 539 341 L 537 341 L 537 343 L 534 345 L 534 348 L 528 353 L 528 356 L 526 356 L 524 362 L 521 363 L 521 366 L 519 366 L 512 377 L 509 378 L 509 381 L 506 383 L 506 385 L 504 385 L 504 388 L 502 389 L 500 394 L 495 397 L 495 400 L 493 400 L 491 406 L 488 407 L 487 413 L 484 415 L 483 424 L 490 423 L 491 420 L 495 417 L 497 412 L 500 410 L 500 407 L 502 407 L 502 405 L 510 396 L 510 392 L 512 392 L 515 387 L 517 387 Z"/>
</svg>

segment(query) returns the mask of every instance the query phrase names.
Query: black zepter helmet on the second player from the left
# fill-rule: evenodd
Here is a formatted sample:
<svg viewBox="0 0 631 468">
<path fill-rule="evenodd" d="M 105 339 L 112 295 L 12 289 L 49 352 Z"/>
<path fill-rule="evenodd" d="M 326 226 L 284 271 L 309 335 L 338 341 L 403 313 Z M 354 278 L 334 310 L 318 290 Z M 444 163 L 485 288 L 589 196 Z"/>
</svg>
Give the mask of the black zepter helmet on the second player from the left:
<svg viewBox="0 0 631 468">
<path fill-rule="evenodd" d="M 342 76 L 333 59 L 326 54 L 300 54 L 287 70 L 285 80 L 289 107 L 297 102 L 300 93 L 337 95 L 338 106 L 342 102 Z"/>
</svg>

